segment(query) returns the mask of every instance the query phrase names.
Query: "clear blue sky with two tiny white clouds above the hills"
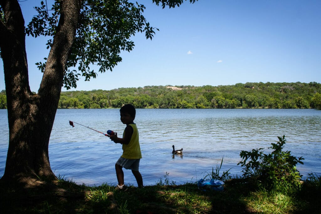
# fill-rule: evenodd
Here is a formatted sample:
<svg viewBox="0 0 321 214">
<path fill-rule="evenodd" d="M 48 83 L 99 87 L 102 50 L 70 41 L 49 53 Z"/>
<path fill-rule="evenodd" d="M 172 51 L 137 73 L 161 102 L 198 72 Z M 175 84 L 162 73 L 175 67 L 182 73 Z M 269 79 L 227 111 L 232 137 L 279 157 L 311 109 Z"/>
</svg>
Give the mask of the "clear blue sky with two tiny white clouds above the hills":
<svg viewBox="0 0 321 214">
<path fill-rule="evenodd" d="M 40 1 L 21 2 L 25 22 Z M 156 31 L 153 40 L 137 33 L 134 50 L 112 72 L 78 81 L 72 90 L 111 90 L 146 85 L 234 85 L 246 82 L 321 83 L 321 1 L 184 2 L 162 9 L 139 0 Z M 27 37 L 31 91 L 42 73 L 34 65 L 48 56 L 47 39 Z M 94 68 L 94 67 L 93 67 Z M 5 89 L 0 60 L 0 90 Z M 98 69 L 97 69 L 98 70 Z M 66 89 L 63 88 L 63 91 Z"/>
</svg>

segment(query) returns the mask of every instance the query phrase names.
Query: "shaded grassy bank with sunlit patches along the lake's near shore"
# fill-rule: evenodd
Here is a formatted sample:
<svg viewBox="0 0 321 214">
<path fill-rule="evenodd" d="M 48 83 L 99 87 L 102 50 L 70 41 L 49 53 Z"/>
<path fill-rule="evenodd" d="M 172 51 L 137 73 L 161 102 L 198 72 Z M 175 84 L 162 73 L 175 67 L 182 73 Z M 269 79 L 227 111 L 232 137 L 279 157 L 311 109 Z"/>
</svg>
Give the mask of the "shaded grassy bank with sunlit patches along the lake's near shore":
<svg viewBox="0 0 321 214">
<path fill-rule="evenodd" d="M 169 174 L 142 189 L 115 191 L 106 183 L 89 187 L 60 178 L 46 187 L 1 186 L 1 213 L 321 213 L 321 178 L 298 188 L 266 191 L 251 179 L 225 181 L 224 191 L 201 191 L 196 183 L 175 185 Z"/>
</svg>

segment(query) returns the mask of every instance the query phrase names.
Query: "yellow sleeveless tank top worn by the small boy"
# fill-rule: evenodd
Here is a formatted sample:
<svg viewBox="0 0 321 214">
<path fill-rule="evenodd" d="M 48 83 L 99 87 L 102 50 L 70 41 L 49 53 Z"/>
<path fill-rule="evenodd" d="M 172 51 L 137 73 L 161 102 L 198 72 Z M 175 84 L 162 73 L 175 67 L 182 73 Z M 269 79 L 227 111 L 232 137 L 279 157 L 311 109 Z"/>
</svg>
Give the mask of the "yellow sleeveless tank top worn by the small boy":
<svg viewBox="0 0 321 214">
<path fill-rule="evenodd" d="M 138 129 L 136 127 L 136 124 L 132 123 L 128 126 L 131 126 L 133 128 L 133 134 L 130 138 L 130 141 L 128 144 L 123 144 L 123 158 L 127 159 L 139 159 L 142 158 L 142 153 L 139 146 L 139 136 L 138 136 Z M 123 138 L 125 136 L 125 130 L 123 133 Z"/>
</svg>

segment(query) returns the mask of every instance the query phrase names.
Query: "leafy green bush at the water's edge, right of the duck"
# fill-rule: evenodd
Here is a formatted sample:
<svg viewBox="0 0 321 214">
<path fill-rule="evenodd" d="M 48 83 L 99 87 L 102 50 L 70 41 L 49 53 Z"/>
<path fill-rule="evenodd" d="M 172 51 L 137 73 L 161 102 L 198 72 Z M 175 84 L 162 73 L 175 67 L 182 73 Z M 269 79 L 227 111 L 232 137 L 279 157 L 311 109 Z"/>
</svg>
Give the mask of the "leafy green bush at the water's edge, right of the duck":
<svg viewBox="0 0 321 214">
<path fill-rule="evenodd" d="M 295 157 L 290 151 L 282 151 L 285 144 L 285 136 L 278 137 L 277 143 L 272 143 L 273 151 L 264 154 L 264 148 L 241 151 L 242 161 L 238 163 L 243 167 L 244 178 L 255 178 L 264 187 L 274 189 L 278 187 L 296 186 L 302 177 L 296 169 L 296 164 L 303 164 L 304 158 Z M 248 161 L 249 160 L 249 161 Z"/>
</svg>

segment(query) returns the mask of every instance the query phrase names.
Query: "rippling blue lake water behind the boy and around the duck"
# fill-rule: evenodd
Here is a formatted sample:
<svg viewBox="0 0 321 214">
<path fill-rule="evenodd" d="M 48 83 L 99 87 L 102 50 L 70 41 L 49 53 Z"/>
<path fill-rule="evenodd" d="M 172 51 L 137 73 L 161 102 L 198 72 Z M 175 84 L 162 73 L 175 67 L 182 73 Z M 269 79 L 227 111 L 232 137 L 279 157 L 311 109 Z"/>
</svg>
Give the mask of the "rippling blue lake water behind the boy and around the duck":
<svg viewBox="0 0 321 214">
<path fill-rule="evenodd" d="M 116 184 L 115 162 L 120 144 L 91 129 L 108 129 L 122 136 L 125 125 L 119 109 L 58 109 L 49 142 L 49 158 L 57 176 L 76 183 Z M 241 174 L 237 165 L 241 150 L 268 147 L 285 135 L 284 151 L 303 156 L 297 169 L 321 175 L 321 111 L 315 109 L 137 109 L 136 119 L 143 159 L 140 172 L 144 185 L 154 185 L 168 173 L 176 184 L 195 182 L 223 165 L 232 176 Z M 4 174 L 8 148 L 7 111 L 0 110 L 0 175 Z M 183 155 L 172 155 L 183 148 Z M 125 183 L 137 186 L 130 170 Z"/>
</svg>

